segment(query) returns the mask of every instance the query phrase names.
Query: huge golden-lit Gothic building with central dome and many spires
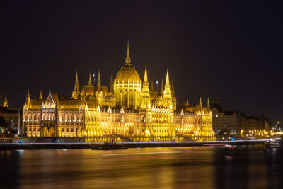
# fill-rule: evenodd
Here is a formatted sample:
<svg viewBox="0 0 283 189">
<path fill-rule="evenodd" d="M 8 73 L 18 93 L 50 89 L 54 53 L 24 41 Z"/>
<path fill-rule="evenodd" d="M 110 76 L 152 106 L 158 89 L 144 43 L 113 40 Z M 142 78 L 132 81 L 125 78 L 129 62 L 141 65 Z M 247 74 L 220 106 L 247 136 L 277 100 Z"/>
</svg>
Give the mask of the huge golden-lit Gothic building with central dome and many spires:
<svg viewBox="0 0 283 189">
<path fill-rule="evenodd" d="M 165 71 L 164 71 L 165 72 Z M 129 44 L 125 65 L 110 86 L 102 86 L 100 73 L 96 84 L 91 75 L 88 85 L 79 86 L 78 74 L 71 98 L 49 92 L 47 98 L 30 98 L 23 106 L 23 134 L 27 137 L 67 137 L 83 142 L 163 142 L 214 140 L 212 111 L 184 103 L 176 108 L 173 81 L 168 69 L 160 90 L 144 79 L 131 63 Z"/>
</svg>

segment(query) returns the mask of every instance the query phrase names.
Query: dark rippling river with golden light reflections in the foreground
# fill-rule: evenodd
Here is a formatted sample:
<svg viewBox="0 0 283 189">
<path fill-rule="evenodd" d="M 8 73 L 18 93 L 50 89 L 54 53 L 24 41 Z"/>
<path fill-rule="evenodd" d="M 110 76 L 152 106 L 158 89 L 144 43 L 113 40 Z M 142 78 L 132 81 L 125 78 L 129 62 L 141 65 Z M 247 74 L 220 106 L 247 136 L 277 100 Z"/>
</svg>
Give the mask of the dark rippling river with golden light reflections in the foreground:
<svg viewBox="0 0 283 189">
<path fill-rule="evenodd" d="M 281 149 L 0 151 L 1 188 L 282 188 Z"/>
</svg>

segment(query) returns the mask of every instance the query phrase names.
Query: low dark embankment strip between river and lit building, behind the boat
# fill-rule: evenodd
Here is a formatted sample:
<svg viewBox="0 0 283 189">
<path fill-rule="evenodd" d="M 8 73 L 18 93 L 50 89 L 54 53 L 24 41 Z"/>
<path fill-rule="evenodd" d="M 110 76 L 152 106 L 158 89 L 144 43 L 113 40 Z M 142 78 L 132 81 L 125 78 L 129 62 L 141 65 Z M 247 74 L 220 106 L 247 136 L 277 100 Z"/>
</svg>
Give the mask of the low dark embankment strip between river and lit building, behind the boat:
<svg viewBox="0 0 283 189">
<path fill-rule="evenodd" d="M 264 144 L 268 139 L 236 140 L 236 141 L 208 141 L 208 142 L 121 142 L 128 148 L 149 148 L 149 147 L 202 147 L 214 146 L 217 144 L 231 145 L 255 145 Z M 100 146 L 104 143 L 27 143 L 27 144 L 0 144 L 0 150 L 15 149 L 91 149 L 93 146 Z"/>
</svg>

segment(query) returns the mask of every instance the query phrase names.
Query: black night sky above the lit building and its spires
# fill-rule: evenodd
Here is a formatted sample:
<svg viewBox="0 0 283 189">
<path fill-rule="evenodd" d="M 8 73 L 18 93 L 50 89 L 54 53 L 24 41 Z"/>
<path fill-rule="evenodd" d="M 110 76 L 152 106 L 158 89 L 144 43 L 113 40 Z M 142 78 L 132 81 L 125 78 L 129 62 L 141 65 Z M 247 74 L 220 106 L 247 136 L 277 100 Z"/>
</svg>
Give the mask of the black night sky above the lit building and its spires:
<svg viewBox="0 0 283 189">
<path fill-rule="evenodd" d="M 27 88 L 71 96 L 89 71 L 132 64 L 160 80 L 168 67 L 178 103 L 282 120 L 282 6 L 274 1 L 1 1 L 0 99 L 22 107 Z"/>
</svg>

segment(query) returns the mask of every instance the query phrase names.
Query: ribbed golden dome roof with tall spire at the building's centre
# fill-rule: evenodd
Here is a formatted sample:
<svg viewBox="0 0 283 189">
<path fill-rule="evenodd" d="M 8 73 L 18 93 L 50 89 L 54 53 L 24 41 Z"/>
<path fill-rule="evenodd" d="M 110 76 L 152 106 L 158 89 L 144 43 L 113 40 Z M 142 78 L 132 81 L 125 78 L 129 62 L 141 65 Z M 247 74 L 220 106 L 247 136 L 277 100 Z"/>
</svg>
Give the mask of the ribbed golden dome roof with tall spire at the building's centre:
<svg viewBox="0 0 283 189">
<path fill-rule="evenodd" d="M 129 57 L 129 41 L 127 45 L 127 57 L 125 60 L 126 64 L 125 66 L 121 67 L 120 71 L 118 71 L 115 82 L 119 84 L 127 83 L 128 81 L 131 84 L 139 83 L 141 79 L 139 78 L 137 70 L 132 66 L 131 58 Z"/>
</svg>

